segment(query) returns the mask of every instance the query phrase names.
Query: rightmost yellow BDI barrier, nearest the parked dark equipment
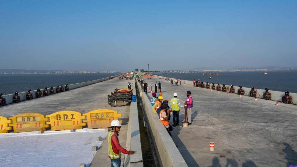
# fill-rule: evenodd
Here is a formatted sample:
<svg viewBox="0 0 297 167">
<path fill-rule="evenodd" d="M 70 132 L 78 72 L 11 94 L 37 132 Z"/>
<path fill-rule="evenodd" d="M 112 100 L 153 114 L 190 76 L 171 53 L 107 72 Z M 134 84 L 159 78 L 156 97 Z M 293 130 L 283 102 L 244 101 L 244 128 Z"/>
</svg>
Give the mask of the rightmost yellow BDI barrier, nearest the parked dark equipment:
<svg viewBox="0 0 297 167">
<path fill-rule="evenodd" d="M 113 120 L 119 120 L 122 114 L 118 114 L 118 111 L 110 109 L 98 109 L 83 114 L 87 117 L 83 122 L 88 123 L 88 128 L 107 128 L 110 127 L 110 123 Z M 122 123 L 122 121 L 120 121 Z"/>
</svg>

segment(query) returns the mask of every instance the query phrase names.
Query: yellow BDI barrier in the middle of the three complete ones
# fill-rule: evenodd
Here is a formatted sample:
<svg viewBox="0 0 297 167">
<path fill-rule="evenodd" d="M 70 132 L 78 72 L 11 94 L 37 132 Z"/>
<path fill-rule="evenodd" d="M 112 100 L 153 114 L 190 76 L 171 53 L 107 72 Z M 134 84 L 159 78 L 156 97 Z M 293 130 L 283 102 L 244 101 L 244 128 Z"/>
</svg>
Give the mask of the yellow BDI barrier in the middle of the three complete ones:
<svg viewBox="0 0 297 167">
<path fill-rule="evenodd" d="M 53 114 L 47 115 L 50 121 L 50 130 L 70 130 L 70 129 L 82 129 L 86 123 L 82 122 L 82 119 L 86 119 L 86 116 L 82 116 L 77 111 L 58 111 Z"/>
</svg>

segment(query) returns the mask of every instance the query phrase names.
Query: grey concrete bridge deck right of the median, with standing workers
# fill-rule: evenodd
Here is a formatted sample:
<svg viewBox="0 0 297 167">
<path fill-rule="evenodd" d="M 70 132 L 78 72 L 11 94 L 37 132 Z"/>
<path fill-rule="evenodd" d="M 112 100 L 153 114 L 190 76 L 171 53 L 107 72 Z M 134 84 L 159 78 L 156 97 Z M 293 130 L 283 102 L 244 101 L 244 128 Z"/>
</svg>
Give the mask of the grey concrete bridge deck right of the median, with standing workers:
<svg viewBox="0 0 297 167">
<path fill-rule="evenodd" d="M 194 100 L 192 125 L 183 128 L 184 109 L 173 141 L 188 166 L 288 166 L 297 165 L 297 106 L 229 94 L 210 89 L 171 86 L 158 78 L 144 79 L 154 90 L 161 81 L 163 98 L 173 93 L 183 105 L 190 90 Z M 182 81 L 184 83 L 184 81 Z M 149 90 L 148 90 L 149 91 Z M 147 94 L 151 97 L 151 93 Z M 170 124 L 173 124 L 171 115 Z M 209 142 L 214 141 L 214 151 Z"/>
</svg>

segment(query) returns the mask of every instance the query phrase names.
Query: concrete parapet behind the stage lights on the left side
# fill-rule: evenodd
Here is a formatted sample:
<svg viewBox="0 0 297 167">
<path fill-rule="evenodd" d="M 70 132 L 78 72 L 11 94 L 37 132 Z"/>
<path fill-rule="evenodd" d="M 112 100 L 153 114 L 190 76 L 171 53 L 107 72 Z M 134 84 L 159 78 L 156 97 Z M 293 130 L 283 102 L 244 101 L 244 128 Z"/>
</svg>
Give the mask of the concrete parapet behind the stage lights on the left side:
<svg viewBox="0 0 297 167">
<path fill-rule="evenodd" d="M 114 75 L 113 77 L 115 78 L 117 75 Z M 97 80 L 92 80 L 92 81 L 86 81 L 86 82 L 81 82 L 81 83 L 73 83 L 73 84 L 68 84 L 68 87 L 69 87 L 69 90 L 71 89 L 76 89 L 76 88 L 80 88 L 80 87 L 83 87 L 83 86 L 88 86 L 88 85 L 91 85 L 91 84 L 94 84 L 94 83 L 98 83 L 98 82 L 102 82 L 102 81 L 105 81 L 106 79 L 109 79 L 109 77 L 106 77 L 106 78 L 101 78 L 101 79 L 97 79 Z M 65 89 L 65 86 L 64 85 L 64 89 Z M 57 87 L 53 87 L 54 89 L 54 92 L 56 93 L 56 88 Z M 43 91 L 45 89 L 40 89 L 42 91 L 42 94 L 43 94 Z M 50 91 L 50 88 L 47 89 L 48 92 Z M 35 93 L 37 92 L 37 90 L 32 90 L 31 93 L 33 95 L 33 99 L 36 98 L 35 96 Z M 1 93 L 1 92 L 0 92 Z M 26 100 L 26 94 L 28 92 L 19 92 L 19 96 L 20 96 L 20 101 L 24 101 Z M 3 95 L 2 97 L 5 98 L 6 100 L 6 104 L 10 104 L 12 103 L 12 97 L 14 96 L 15 94 L 6 94 L 6 95 Z"/>
</svg>

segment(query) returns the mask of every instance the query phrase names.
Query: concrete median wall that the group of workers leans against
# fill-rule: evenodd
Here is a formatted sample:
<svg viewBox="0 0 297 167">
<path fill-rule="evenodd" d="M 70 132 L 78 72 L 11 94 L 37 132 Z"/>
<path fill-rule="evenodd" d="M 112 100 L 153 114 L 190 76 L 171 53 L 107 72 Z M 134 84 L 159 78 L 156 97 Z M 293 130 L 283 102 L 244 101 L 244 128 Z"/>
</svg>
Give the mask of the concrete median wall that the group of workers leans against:
<svg viewBox="0 0 297 167">
<path fill-rule="evenodd" d="M 138 81 L 136 81 L 136 83 L 139 90 L 139 88 L 141 88 L 140 83 Z M 160 166 L 187 166 L 184 158 L 176 148 L 164 125 L 160 122 L 157 114 L 154 114 L 151 111 L 151 102 L 147 98 L 146 94 L 141 92 L 141 90 L 139 90 L 139 92 L 142 93 L 141 100 L 148 120 L 149 129 L 152 134 L 151 137 L 154 142 L 154 147 L 157 151 L 156 154 L 158 156 L 157 158 Z"/>
</svg>

